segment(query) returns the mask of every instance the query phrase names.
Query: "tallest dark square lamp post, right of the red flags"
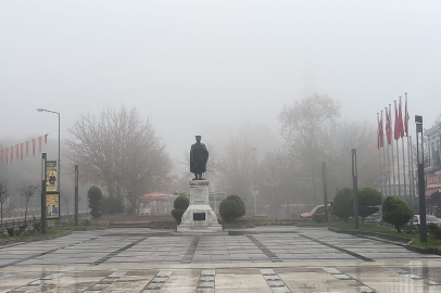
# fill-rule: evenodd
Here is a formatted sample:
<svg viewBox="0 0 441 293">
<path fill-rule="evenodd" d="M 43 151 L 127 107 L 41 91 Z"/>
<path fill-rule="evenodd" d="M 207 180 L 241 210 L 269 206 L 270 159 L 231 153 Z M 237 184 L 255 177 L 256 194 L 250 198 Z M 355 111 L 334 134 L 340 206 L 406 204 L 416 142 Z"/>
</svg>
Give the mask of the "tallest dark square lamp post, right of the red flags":
<svg viewBox="0 0 441 293">
<path fill-rule="evenodd" d="M 423 116 L 415 115 L 416 124 L 416 160 L 418 163 L 418 198 L 419 198 L 419 238 L 427 242 L 426 227 L 426 180 L 424 178 L 424 141 Z"/>
</svg>

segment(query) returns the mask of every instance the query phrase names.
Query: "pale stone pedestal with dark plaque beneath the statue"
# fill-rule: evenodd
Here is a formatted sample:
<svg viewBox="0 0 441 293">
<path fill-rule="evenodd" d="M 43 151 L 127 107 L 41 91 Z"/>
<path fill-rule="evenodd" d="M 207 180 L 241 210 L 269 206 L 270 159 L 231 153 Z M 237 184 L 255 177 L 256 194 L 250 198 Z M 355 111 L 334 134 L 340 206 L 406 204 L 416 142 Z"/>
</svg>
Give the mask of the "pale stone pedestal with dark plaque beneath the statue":
<svg viewBox="0 0 441 293">
<path fill-rule="evenodd" d="M 193 180 L 190 183 L 190 205 L 182 215 L 178 233 L 218 233 L 222 226 L 209 202 L 209 180 Z"/>
</svg>

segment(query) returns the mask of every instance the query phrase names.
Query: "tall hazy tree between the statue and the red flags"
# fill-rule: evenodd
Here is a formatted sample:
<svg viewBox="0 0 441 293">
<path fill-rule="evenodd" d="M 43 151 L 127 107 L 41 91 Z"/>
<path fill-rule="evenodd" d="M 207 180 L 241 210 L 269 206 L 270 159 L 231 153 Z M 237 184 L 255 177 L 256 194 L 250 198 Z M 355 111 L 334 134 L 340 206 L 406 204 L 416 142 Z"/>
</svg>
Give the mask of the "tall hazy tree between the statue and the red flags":
<svg viewBox="0 0 441 293">
<path fill-rule="evenodd" d="M 280 133 L 299 164 L 310 171 L 314 204 L 317 204 L 316 182 L 323 156 L 324 127 L 340 116 L 340 104 L 328 95 L 306 97 L 279 115 Z"/>
</svg>

